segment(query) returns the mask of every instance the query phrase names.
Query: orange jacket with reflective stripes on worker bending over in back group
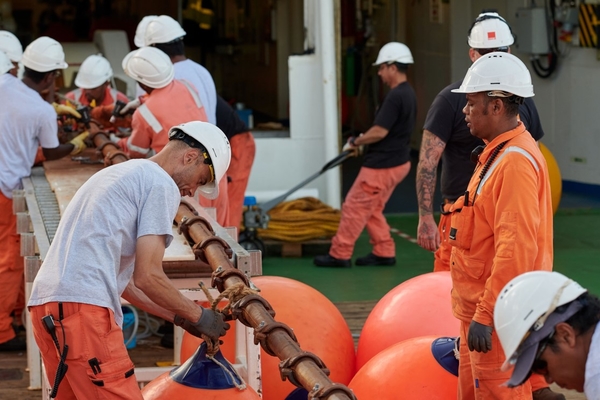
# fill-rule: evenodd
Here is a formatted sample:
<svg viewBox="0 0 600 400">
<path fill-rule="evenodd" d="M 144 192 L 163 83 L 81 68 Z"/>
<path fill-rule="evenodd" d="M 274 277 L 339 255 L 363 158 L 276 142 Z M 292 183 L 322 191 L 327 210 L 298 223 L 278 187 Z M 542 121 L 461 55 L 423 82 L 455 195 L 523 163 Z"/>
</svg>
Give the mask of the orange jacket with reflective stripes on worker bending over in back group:
<svg viewBox="0 0 600 400">
<path fill-rule="evenodd" d="M 150 150 L 158 153 L 165 147 L 169 129 L 189 121 L 208 121 L 202 101 L 187 82 L 173 80 L 164 88 L 154 89 L 135 110 L 131 136 L 119 140 L 118 145 L 131 158 L 147 157 Z"/>
</svg>

